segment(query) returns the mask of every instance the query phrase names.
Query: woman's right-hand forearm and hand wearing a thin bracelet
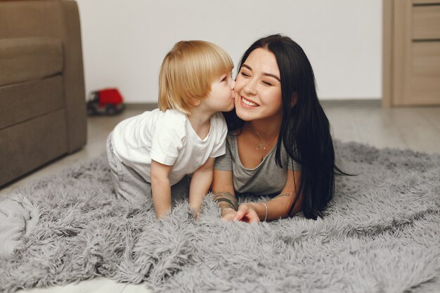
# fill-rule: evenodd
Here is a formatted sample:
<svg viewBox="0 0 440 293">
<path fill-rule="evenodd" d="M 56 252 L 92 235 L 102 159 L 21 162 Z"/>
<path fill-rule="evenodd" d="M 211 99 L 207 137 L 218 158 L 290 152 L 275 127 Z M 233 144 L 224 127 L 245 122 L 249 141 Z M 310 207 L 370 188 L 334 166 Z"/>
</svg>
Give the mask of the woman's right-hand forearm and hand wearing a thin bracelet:
<svg viewBox="0 0 440 293">
<path fill-rule="evenodd" d="M 301 177 L 300 171 L 289 170 L 287 173 L 287 181 L 285 187 L 279 195 L 273 197 L 273 199 L 264 202 L 246 202 L 240 204 L 238 211 L 233 217 L 234 220 L 246 221 L 248 223 L 254 223 L 258 221 L 275 220 L 280 218 L 287 218 L 290 216 L 289 209 L 297 196 L 297 189 L 299 188 L 299 179 Z M 295 207 L 292 210 L 292 214 L 296 214 L 301 210 L 302 197 L 297 200 Z M 267 216 L 266 216 L 267 206 Z"/>
</svg>

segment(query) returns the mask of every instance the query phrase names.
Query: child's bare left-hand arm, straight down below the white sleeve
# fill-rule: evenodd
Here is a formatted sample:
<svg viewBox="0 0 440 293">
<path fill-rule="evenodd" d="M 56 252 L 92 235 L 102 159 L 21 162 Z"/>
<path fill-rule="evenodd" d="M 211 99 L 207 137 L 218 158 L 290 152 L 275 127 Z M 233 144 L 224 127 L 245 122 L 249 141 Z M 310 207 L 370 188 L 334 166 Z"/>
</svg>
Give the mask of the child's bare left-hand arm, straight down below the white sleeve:
<svg viewBox="0 0 440 293">
<path fill-rule="evenodd" d="M 171 207 L 171 184 L 168 176 L 172 168 L 151 160 L 151 193 L 157 218 L 167 216 Z"/>
</svg>

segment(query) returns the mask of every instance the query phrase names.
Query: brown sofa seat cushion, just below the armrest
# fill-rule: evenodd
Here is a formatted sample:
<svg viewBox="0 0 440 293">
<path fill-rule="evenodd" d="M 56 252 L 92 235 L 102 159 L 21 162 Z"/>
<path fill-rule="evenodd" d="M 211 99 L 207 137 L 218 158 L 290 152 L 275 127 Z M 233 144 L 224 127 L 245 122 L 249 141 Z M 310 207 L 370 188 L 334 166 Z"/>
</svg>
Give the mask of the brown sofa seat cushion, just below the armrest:
<svg viewBox="0 0 440 293">
<path fill-rule="evenodd" d="M 0 86 L 41 79 L 63 71 L 59 39 L 0 39 Z"/>
</svg>

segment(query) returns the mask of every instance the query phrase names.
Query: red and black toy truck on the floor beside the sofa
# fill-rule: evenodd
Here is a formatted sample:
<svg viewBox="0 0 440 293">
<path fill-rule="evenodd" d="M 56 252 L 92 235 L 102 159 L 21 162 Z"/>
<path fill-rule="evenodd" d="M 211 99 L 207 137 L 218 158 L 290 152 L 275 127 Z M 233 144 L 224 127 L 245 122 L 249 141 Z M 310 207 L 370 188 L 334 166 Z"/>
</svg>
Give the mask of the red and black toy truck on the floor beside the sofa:
<svg viewBox="0 0 440 293">
<path fill-rule="evenodd" d="M 124 98 L 117 89 L 92 91 L 87 99 L 89 115 L 115 115 L 124 110 Z"/>
</svg>

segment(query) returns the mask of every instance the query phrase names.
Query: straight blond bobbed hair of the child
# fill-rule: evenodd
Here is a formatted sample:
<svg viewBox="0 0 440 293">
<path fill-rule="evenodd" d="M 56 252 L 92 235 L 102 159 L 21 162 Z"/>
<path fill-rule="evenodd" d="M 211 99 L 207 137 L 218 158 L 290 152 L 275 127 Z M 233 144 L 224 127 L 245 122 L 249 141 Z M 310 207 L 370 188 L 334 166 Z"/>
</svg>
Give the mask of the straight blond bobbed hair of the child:
<svg viewBox="0 0 440 293">
<path fill-rule="evenodd" d="M 231 72 L 231 57 L 209 41 L 179 41 L 165 56 L 159 74 L 159 108 L 189 114 L 211 91 L 212 82 Z"/>
</svg>

